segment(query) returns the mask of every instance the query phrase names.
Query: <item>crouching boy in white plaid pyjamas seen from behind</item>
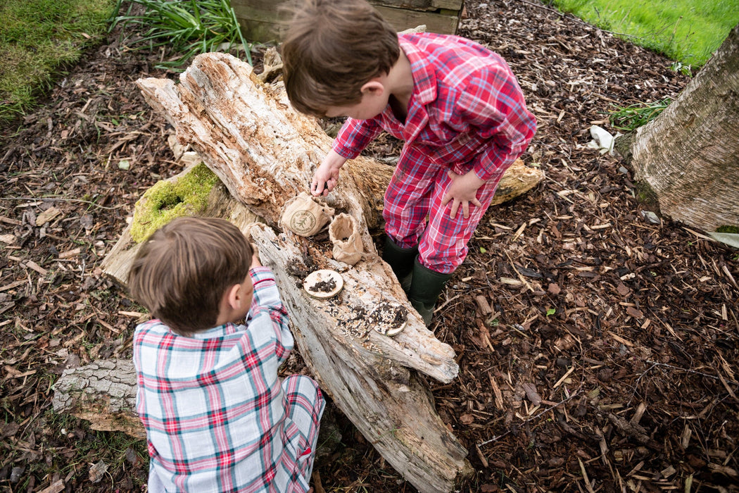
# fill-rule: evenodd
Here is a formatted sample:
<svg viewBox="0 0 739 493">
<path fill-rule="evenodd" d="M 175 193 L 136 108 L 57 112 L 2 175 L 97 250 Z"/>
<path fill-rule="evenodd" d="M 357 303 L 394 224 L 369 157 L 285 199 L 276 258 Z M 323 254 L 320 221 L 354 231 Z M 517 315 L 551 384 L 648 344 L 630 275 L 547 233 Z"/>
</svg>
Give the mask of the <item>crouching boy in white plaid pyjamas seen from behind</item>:
<svg viewBox="0 0 739 493">
<path fill-rule="evenodd" d="M 324 399 L 278 377 L 293 349 L 273 273 L 236 226 L 180 217 L 141 246 L 129 290 L 149 492 L 308 492 Z M 238 324 L 246 317 L 246 324 Z"/>
</svg>

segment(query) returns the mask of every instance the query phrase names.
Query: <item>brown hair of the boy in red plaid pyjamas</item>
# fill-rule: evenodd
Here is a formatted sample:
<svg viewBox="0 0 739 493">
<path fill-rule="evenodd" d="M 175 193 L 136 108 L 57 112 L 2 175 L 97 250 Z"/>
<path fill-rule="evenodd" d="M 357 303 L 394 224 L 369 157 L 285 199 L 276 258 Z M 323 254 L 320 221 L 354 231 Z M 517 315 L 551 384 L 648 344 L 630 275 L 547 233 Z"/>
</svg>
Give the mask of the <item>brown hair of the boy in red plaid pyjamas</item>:
<svg viewBox="0 0 739 493">
<path fill-rule="evenodd" d="M 361 86 L 400 56 L 398 33 L 364 0 L 305 0 L 282 42 L 287 98 L 299 112 L 361 101 Z"/>
</svg>

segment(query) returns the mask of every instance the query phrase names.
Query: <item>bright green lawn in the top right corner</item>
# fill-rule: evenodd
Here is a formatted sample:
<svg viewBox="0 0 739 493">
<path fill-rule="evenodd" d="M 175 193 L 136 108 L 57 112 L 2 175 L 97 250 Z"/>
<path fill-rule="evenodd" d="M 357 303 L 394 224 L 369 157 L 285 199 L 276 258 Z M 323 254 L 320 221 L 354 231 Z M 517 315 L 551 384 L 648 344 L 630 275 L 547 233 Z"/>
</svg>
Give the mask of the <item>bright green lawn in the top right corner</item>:
<svg viewBox="0 0 739 493">
<path fill-rule="evenodd" d="M 700 67 L 739 23 L 739 0 L 550 0 L 634 44 Z"/>
</svg>

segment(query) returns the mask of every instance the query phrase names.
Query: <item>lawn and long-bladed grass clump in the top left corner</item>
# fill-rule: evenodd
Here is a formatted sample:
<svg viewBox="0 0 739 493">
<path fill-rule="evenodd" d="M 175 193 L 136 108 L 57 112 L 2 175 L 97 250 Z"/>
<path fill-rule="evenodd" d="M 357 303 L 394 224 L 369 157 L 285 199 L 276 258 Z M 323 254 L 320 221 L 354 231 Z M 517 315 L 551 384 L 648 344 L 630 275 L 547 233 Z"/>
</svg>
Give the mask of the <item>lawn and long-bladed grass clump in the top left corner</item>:
<svg viewBox="0 0 739 493">
<path fill-rule="evenodd" d="M 132 0 L 143 13 L 120 10 L 121 0 L 0 0 L 0 124 L 32 110 L 65 67 L 115 24 L 142 30 L 140 47 L 179 52 L 162 67 L 182 68 L 192 56 L 241 43 L 229 0 Z"/>
</svg>

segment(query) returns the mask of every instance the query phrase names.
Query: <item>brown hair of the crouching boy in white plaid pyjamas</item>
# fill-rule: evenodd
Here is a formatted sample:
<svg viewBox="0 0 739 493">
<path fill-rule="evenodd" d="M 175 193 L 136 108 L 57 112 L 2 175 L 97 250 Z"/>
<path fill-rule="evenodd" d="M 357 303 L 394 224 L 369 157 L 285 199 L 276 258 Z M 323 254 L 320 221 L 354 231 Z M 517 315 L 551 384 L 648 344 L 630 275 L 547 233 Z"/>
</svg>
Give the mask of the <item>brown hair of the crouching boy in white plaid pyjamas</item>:
<svg viewBox="0 0 739 493">
<path fill-rule="evenodd" d="M 129 291 L 151 315 L 188 336 L 215 327 L 228 288 L 244 282 L 252 249 L 226 220 L 178 217 L 141 245 Z"/>
</svg>

